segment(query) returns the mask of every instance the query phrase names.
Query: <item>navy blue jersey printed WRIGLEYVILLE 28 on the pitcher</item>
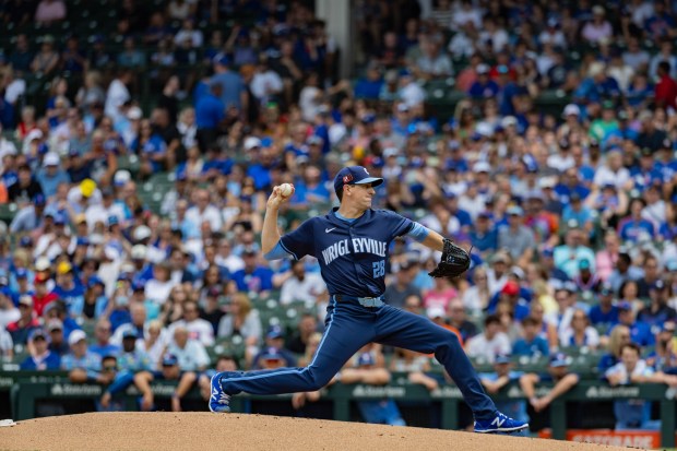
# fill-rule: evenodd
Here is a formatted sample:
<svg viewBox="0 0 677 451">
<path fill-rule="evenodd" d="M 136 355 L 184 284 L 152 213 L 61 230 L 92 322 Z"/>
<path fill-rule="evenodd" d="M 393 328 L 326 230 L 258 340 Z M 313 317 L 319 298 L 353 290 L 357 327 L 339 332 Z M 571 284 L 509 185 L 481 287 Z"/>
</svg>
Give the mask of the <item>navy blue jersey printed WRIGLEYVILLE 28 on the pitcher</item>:
<svg viewBox="0 0 677 451">
<path fill-rule="evenodd" d="M 312 256 L 320 263 L 329 293 L 377 297 L 385 290 L 389 245 L 415 223 L 388 210 L 367 210 L 352 222 L 334 212 L 316 216 L 280 240 L 295 259 Z"/>
</svg>

